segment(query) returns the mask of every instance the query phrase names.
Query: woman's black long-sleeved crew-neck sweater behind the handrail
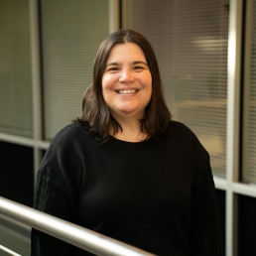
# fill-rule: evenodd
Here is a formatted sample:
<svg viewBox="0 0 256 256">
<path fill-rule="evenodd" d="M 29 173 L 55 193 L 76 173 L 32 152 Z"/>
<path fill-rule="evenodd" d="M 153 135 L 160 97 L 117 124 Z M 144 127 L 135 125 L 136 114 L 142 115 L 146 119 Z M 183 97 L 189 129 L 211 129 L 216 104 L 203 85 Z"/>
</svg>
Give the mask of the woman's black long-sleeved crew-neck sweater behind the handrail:
<svg viewBox="0 0 256 256">
<path fill-rule="evenodd" d="M 68 125 L 42 162 L 35 208 L 157 255 L 221 255 L 209 157 L 179 122 L 158 138 L 103 145 Z M 32 255 L 91 254 L 33 230 Z"/>
</svg>

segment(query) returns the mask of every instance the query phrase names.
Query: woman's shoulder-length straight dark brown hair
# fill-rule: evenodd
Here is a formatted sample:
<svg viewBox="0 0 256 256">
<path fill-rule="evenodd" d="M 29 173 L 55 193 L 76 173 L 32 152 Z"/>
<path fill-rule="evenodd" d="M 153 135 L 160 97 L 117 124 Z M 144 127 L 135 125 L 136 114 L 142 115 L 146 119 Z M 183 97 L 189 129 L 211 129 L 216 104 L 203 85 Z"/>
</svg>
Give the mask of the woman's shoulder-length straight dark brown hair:
<svg viewBox="0 0 256 256">
<path fill-rule="evenodd" d="M 73 122 L 96 135 L 102 143 L 109 138 L 110 128 L 114 134 L 122 131 L 121 125 L 112 117 L 102 94 L 102 76 L 112 48 L 117 44 L 134 43 L 139 46 L 147 60 L 152 75 L 152 96 L 145 109 L 145 116 L 140 120 L 141 132 L 149 137 L 167 130 L 171 113 L 163 95 L 160 71 L 150 43 L 138 32 L 119 30 L 110 34 L 99 46 L 93 67 L 92 83 L 85 91 L 82 101 L 82 115 Z"/>
</svg>

